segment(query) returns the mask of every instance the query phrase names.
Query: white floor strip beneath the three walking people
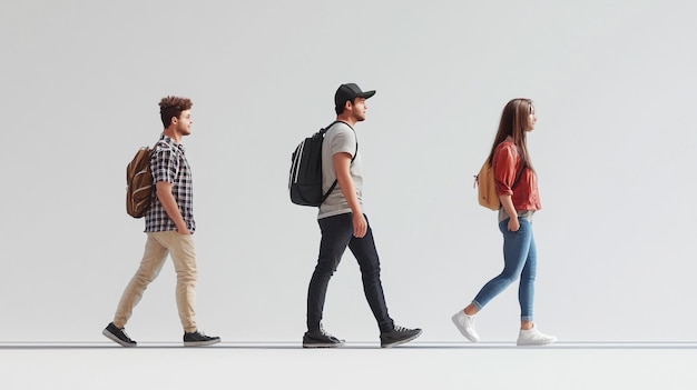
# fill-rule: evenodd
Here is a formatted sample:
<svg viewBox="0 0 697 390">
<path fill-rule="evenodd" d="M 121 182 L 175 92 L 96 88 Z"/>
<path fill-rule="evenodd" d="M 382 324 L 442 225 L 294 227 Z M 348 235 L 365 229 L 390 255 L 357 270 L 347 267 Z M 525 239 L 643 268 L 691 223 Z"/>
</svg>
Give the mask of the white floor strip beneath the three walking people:
<svg viewBox="0 0 697 390">
<path fill-rule="evenodd" d="M 0 342 L 0 389 L 697 389 L 695 342 Z"/>
</svg>

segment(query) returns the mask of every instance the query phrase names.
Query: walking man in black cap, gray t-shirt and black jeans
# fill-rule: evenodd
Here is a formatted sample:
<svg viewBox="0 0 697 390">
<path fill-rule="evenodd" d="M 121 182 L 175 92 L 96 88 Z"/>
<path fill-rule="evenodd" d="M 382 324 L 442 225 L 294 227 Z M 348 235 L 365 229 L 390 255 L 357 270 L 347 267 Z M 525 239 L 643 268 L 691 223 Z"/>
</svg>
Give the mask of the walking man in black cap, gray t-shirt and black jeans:
<svg viewBox="0 0 697 390">
<path fill-rule="evenodd" d="M 317 266 L 307 291 L 307 332 L 304 348 L 341 347 L 340 340 L 322 328 L 322 311 L 330 278 L 338 267 L 346 250 L 359 261 L 365 298 L 377 320 L 380 346 L 390 348 L 414 340 L 421 329 L 406 329 L 394 324 L 380 281 L 380 259 L 373 232 L 363 213 L 363 174 L 355 131 L 356 122 L 365 120 L 365 100 L 375 91 L 362 91 L 354 83 L 342 84 L 334 94 L 336 122 L 326 131 L 322 143 L 323 191 L 328 191 L 334 180 L 338 183 L 320 206 L 317 217 L 322 231 Z"/>
</svg>

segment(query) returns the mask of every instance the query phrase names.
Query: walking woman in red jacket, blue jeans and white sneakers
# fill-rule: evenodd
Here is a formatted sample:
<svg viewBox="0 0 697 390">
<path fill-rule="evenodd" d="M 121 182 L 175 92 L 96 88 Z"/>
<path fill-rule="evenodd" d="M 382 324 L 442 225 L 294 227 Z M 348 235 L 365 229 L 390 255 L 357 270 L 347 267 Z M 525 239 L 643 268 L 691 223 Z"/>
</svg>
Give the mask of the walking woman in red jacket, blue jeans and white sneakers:
<svg viewBox="0 0 697 390">
<path fill-rule="evenodd" d="M 497 193 L 501 200 L 499 230 L 503 234 L 503 271 L 479 291 L 464 310 L 452 317 L 460 332 L 479 341 L 474 329 L 477 313 L 509 284 L 520 278 L 520 333 L 518 346 L 544 346 L 557 341 L 539 331 L 532 320 L 537 251 L 532 236 L 532 214 L 541 209 L 538 182 L 530 163 L 526 134 L 534 129 L 537 117 L 529 99 L 505 104 L 497 138 L 489 154 Z"/>
</svg>

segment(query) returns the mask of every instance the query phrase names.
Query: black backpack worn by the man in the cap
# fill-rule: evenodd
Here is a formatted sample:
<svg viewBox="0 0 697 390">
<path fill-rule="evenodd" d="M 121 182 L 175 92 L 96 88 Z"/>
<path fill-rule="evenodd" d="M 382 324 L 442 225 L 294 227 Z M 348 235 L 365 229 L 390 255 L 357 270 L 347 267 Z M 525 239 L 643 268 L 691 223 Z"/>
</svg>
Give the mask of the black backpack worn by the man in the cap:
<svg viewBox="0 0 697 390">
<path fill-rule="evenodd" d="M 322 192 L 322 142 L 326 131 L 338 122 L 341 121 L 334 121 L 332 124 L 312 134 L 312 137 L 305 138 L 291 156 L 288 192 L 293 203 L 317 207 L 336 188 L 338 181 L 334 180 L 330 190 L 326 193 Z M 351 162 L 356 158 L 357 152 L 359 142 L 356 141 L 356 152 L 353 153 Z"/>
</svg>

